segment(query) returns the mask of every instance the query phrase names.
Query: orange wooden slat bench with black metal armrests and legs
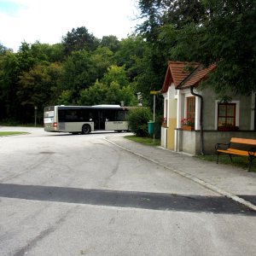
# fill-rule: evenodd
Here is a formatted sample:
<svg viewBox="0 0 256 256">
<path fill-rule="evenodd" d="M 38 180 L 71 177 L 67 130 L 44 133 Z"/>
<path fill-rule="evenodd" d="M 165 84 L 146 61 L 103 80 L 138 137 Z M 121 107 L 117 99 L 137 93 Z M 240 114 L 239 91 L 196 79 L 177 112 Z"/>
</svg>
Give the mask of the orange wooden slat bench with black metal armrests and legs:
<svg viewBox="0 0 256 256">
<path fill-rule="evenodd" d="M 237 144 L 245 145 L 248 149 L 242 150 L 238 149 Z M 254 147 L 254 148 L 253 148 Z M 219 154 L 229 154 L 230 160 L 232 161 L 232 155 L 242 155 L 248 157 L 248 172 L 251 171 L 253 159 L 256 158 L 256 139 L 247 139 L 239 137 L 231 137 L 230 143 L 217 143 L 215 145 L 215 150 L 217 154 L 216 163 L 218 164 Z"/>
</svg>

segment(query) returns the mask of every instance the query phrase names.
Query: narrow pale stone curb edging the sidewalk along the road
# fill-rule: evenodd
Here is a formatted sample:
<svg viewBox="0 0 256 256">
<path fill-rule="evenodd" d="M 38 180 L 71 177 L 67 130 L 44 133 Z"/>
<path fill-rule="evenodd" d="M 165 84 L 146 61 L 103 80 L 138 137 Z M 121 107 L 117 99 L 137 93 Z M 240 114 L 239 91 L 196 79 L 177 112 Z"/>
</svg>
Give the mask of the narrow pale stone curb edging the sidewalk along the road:
<svg viewBox="0 0 256 256">
<path fill-rule="evenodd" d="M 243 205 L 243 206 L 245 206 L 245 207 L 248 207 L 248 208 L 250 208 L 250 209 L 252 209 L 253 211 L 256 212 L 256 206 L 253 205 L 253 203 L 251 203 L 250 201 L 246 201 L 246 200 L 244 200 L 243 198 L 241 198 L 241 197 L 239 197 L 239 196 L 237 196 L 237 195 L 235 195 L 235 194 L 233 194 L 233 193 L 230 193 L 230 192 L 228 192 L 228 191 L 225 191 L 224 189 L 220 189 L 220 188 L 218 188 L 218 186 L 216 186 L 216 185 L 212 185 L 211 183 L 207 183 L 206 181 L 202 180 L 202 179 L 199 178 L 199 177 L 195 177 L 194 175 L 191 175 L 191 174 L 186 173 L 186 172 L 178 171 L 178 170 L 176 170 L 176 169 L 173 169 L 172 167 L 169 167 L 169 166 L 166 166 L 166 165 L 160 163 L 160 162 L 157 161 L 157 160 L 150 159 L 148 156 L 145 156 L 145 155 L 143 155 L 143 154 L 136 153 L 136 152 L 132 151 L 131 149 L 125 148 L 125 147 L 123 147 L 123 146 L 120 146 L 120 145 L 117 144 L 117 143 L 113 143 L 112 141 L 108 140 L 107 138 L 104 138 L 104 140 L 107 141 L 108 143 L 113 144 L 113 145 L 116 146 L 116 147 L 119 147 L 119 148 L 124 149 L 125 151 L 127 151 L 127 152 L 129 152 L 129 153 L 131 153 L 131 154 L 135 154 L 135 155 L 137 155 L 137 156 L 139 156 L 139 157 L 141 157 L 141 158 L 143 158 L 143 159 L 145 159 L 145 160 L 148 160 L 148 161 L 150 161 L 150 162 L 152 162 L 152 163 L 154 163 L 154 164 L 156 164 L 156 165 L 158 165 L 158 166 L 162 166 L 162 167 L 164 167 L 164 168 L 170 170 L 171 172 L 174 172 L 174 173 L 178 174 L 179 176 L 186 177 L 186 178 L 188 178 L 189 180 L 191 180 L 191 181 L 193 181 L 193 182 L 195 182 L 195 183 L 198 183 L 198 184 L 200 184 L 201 186 L 203 186 L 203 187 L 205 187 L 205 188 L 207 188 L 207 189 L 210 189 L 210 190 L 212 190 L 212 191 L 215 192 L 215 193 L 218 193 L 219 195 L 224 195 L 224 196 L 230 198 L 231 200 L 236 201 L 236 202 L 240 203 L 241 205 Z"/>
</svg>

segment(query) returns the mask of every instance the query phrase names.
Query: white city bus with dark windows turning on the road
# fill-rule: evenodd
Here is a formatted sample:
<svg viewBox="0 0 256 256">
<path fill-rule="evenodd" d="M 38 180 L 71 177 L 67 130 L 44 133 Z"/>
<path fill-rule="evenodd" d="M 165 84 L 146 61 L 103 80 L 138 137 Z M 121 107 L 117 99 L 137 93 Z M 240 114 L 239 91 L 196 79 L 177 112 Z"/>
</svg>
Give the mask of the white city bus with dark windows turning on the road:
<svg viewBox="0 0 256 256">
<path fill-rule="evenodd" d="M 90 131 L 128 131 L 127 107 L 119 105 L 52 106 L 44 108 L 44 131 L 88 134 Z"/>
</svg>

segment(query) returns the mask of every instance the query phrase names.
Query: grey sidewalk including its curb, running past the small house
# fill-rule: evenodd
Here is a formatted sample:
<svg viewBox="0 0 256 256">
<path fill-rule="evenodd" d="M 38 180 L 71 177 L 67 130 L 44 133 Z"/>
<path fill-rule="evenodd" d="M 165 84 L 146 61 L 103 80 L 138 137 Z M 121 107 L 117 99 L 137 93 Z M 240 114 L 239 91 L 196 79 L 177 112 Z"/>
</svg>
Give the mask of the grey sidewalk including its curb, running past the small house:
<svg viewBox="0 0 256 256">
<path fill-rule="evenodd" d="M 108 143 L 175 172 L 256 212 L 256 173 L 216 164 L 187 154 L 135 143 L 124 137 L 106 137 Z M 255 164 L 255 163 L 254 163 Z"/>
</svg>

